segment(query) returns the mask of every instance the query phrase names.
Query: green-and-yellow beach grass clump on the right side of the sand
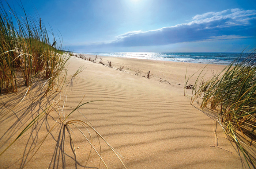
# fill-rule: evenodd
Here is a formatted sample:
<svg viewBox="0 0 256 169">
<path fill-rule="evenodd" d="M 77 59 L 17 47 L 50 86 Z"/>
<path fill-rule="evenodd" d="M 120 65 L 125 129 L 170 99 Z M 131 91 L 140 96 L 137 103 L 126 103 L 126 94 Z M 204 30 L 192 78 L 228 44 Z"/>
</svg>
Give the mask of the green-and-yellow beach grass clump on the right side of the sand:
<svg viewBox="0 0 256 169">
<path fill-rule="evenodd" d="M 255 168 L 255 153 L 248 148 L 256 144 L 256 53 L 242 61 L 240 58 L 212 79 L 201 82 L 199 88 L 193 88 L 192 98 L 200 100 L 202 109 L 217 112 L 218 122 L 236 142 L 249 168 Z"/>
</svg>

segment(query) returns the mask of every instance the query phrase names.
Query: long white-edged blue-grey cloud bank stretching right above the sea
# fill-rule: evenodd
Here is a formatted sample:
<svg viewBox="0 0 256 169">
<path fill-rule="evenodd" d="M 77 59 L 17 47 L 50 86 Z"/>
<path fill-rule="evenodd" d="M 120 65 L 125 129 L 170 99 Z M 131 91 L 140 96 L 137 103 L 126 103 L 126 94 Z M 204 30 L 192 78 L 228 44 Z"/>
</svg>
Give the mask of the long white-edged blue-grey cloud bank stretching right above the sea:
<svg viewBox="0 0 256 169">
<path fill-rule="evenodd" d="M 189 23 L 158 30 L 131 31 L 116 40 L 92 46 L 157 46 L 181 42 L 256 38 L 256 10 L 240 8 L 207 12 L 192 17 Z"/>
</svg>

